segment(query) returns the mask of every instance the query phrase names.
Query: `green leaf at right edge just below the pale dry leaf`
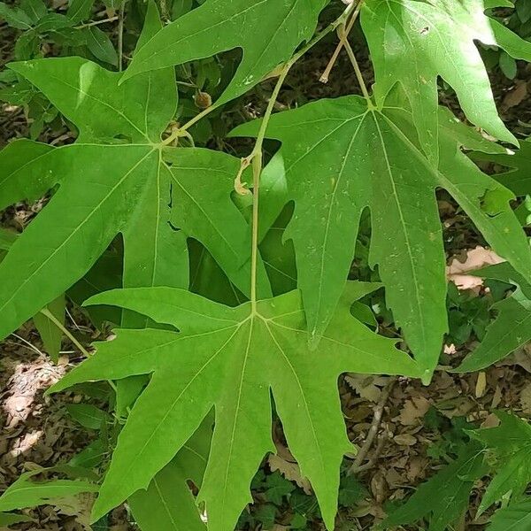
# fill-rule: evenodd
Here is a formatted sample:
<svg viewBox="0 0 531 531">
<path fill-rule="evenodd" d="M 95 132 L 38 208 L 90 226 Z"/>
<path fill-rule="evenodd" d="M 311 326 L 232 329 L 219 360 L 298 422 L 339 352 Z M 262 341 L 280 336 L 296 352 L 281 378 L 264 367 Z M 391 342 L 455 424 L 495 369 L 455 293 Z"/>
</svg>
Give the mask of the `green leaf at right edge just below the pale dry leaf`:
<svg viewBox="0 0 531 531">
<path fill-rule="evenodd" d="M 487 327 L 479 346 L 458 366 L 458 373 L 491 366 L 531 341 L 531 284 L 507 263 L 485 267 L 472 274 L 514 284 L 517 289 L 512 296 L 492 306 L 496 319 Z"/>
</svg>

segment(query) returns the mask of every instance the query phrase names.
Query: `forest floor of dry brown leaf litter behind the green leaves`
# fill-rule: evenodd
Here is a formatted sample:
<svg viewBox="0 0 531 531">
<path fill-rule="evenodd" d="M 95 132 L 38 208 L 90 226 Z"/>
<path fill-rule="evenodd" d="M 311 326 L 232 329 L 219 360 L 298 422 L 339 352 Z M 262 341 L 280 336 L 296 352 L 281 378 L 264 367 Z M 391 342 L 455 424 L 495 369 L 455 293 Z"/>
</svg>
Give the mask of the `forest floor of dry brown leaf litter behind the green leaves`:
<svg viewBox="0 0 531 531">
<path fill-rule="evenodd" d="M 14 42 L 12 30 L 0 23 L 0 67 L 10 58 Z M 334 43 L 319 46 L 294 70 L 281 95 L 281 104 L 289 106 L 301 93 L 314 99 L 340 96 L 356 87 L 343 57 L 335 66 L 329 83 L 319 83 L 319 75 L 333 49 Z M 366 80 L 370 83 L 372 72 L 368 61 L 365 64 Z M 495 71 L 492 81 L 498 109 L 508 127 L 517 135 L 531 132 L 525 125 L 531 123 L 531 98 L 527 97 L 527 87 L 531 89 L 531 69 L 522 66 L 513 81 Z M 266 93 L 266 89 L 263 90 Z M 456 109 L 452 96 L 443 96 L 443 103 Z M 9 139 L 26 133 L 24 110 L 3 104 L 0 107 L 0 147 Z M 0 220 L 4 226 L 20 227 L 39 208 L 38 204 L 18 204 L 5 211 Z M 442 204 L 441 208 L 445 224 L 451 227 L 452 217 L 457 214 L 449 210 L 447 204 Z M 461 235 L 458 242 L 458 249 L 449 250 L 449 260 L 452 256 L 465 257 L 466 251 L 478 243 L 472 232 Z M 78 324 L 70 319 L 67 326 L 76 333 Z M 80 359 L 79 352 L 67 340 L 63 348 L 58 365 L 52 364 L 42 351 L 42 342 L 31 323 L 0 343 L 0 491 L 35 464 L 52 466 L 66 461 L 89 442 L 87 431 L 65 412 L 65 404 L 79 402 L 81 396 L 65 393 L 43 397 L 44 390 Z M 472 349 L 472 342 L 457 351 L 449 345 L 447 356 L 463 358 Z M 385 502 L 404 498 L 434 473 L 430 465 L 433 459 L 428 455 L 447 450 L 455 435 L 454 427 L 466 422 L 491 426 L 496 423 L 493 412 L 500 409 L 531 418 L 531 349 L 523 348 L 481 373 L 457 375 L 437 371 L 426 387 L 419 381 L 407 379 L 350 375 L 341 382 L 341 396 L 350 439 L 367 450 L 364 458 L 356 462 L 358 477 L 366 485 L 367 492 L 355 506 L 342 509 L 338 526 L 364 529 L 381 519 Z M 426 422 L 427 414 L 432 422 Z M 374 422 L 380 415 L 380 421 Z M 367 448 L 364 442 L 371 427 L 376 436 Z M 285 452 L 283 458 L 289 463 L 289 452 Z M 478 498 L 482 487 L 477 484 L 474 489 Z M 19 528 L 32 531 L 83 529 L 87 507 L 89 504 L 83 508 L 81 500 L 76 506 L 65 505 L 58 514 L 51 507 L 42 506 L 31 512 L 35 523 Z M 463 529 L 481 529 L 489 518 L 486 513 L 484 519 L 470 525 L 473 512 L 471 504 Z M 127 522 L 123 507 L 113 515 L 109 528 L 113 531 L 135 529 Z M 276 529 L 288 527 L 277 523 Z"/>
</svg>

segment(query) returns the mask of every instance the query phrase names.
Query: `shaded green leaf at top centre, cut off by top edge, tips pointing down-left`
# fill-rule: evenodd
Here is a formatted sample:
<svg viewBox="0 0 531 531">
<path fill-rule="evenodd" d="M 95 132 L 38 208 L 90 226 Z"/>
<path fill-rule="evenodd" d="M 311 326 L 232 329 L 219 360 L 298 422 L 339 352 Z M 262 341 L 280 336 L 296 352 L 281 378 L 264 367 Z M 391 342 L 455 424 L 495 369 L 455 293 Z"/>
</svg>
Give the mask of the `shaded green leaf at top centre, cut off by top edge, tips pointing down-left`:
<svg viewBox="0 0 531 531">
<path fill-rule="evenodd" d="M 124 80 L 242 48 L 242 63 L 216 103 L 224 104 L 289 59 L 296 47 L 313 35 L 325 4 L 326 0 L 208 0 L 146 42 Z"/>
</svg>

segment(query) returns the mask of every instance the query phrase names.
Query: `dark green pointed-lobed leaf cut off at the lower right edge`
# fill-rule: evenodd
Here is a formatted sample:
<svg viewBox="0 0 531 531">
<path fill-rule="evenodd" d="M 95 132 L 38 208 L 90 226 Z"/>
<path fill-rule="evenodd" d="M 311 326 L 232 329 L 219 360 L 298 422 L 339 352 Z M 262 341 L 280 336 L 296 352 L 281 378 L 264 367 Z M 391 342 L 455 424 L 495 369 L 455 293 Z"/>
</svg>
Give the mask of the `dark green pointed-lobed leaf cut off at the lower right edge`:
<svg viewBox="0 0 531 531">
<path fill-rule="evenodd" d="M 520 496 L 531 482 L 531 426 L 506 412 L 496 412 L 496 416 L 501 420 L 499 426 L 470 432 L 496 457 L 496 471 L 481 498 L 478 514 L 507 493 Z"/>
</svg>

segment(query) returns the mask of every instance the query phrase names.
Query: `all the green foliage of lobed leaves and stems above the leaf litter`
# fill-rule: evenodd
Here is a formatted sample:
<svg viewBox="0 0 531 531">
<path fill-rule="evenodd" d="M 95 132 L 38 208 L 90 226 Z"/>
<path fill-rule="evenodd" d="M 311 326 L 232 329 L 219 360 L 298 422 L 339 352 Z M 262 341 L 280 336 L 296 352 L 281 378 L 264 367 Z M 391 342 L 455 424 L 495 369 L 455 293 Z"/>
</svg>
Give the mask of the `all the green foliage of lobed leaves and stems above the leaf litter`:
<svg viewBox="0 0 531 531">
<path fill-rule="evenodd" d="M 144 531 L 232 531 L 276 451 L 279 419 L 332 530 L 342 460 L 355 451 L 338 379 L 428 384 L 449 332 L 437 193 L 504 259 L 476 274 L 510 293 L 455 370 L 484 368 L 531 340 L 531 248 L 518 212 L 531 193 L 531 144 L 504 127 L 481 56 L 496 47 L 508 68 L 531 60 L 531 43 L 496 19 L 495 8 L 512 7 L 505 0 L 205 0 L 164 2 L 162 14 L 150 0 L 135 4 L 143 27 L 125 58 L 123 35 L 117 53 L 86 23 L 92 4 L 72 0 L 65 14 L 41 0 L 0 4 L 0 17 L 23 31 L 17 60 L 0 73 L 2 97 L 34 113 L 31 139 L 0 152 L 0 209 L 46 197 L 20 234 L 0 233 L 0 336 L 34 319 L 57 358 L 67 302 L 82 304 L 96 327 L 112 323 L 116 337 L 96 342 L 48 391 L 108 381 L 112 415 L 74 408 L 100 437 L 67 466 L 23 475 L 0 497 L 0 524 L 24 519 L 13 512 L 21 508 L 97 492 L 93 522 L 127 502 Z M 123 6 L 107 7 L 123 17 Z M 361 96 L 275 111 L 290 69 L 354 23 L 373 87 L 342 40 Z M 44 38 L 57 57 L 42 57 Z M 241 58 L 221 71 L 212 58 L 233 50 Z M 189 111 L 190 69 L 202 80 L 202 112 Z M 265 112 L 223 135 L 253 146 L 247 156 L 223 142 L 212 149 L 207 117 L 265 80 L 274 87 Z M 439 106 L 441 81 L 462 119 Z M 54 120 L 73 142 L 35 140 Z M 478 160 L 506 170 L 489 176 Z M 355 275 L 369 235 L 372 273 Z M 399 337 L 367 326 L 366 303 L 379 289 Z M 528 520 L 531 427 L 499 418 L 498 427 L 467 430 L 458 458 L 382 526 L 427 519 L 445 529 L 493 455 L 501 465 L 479 512 L 504 499 L 492 531 Z"/>
</svg>

